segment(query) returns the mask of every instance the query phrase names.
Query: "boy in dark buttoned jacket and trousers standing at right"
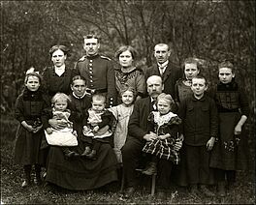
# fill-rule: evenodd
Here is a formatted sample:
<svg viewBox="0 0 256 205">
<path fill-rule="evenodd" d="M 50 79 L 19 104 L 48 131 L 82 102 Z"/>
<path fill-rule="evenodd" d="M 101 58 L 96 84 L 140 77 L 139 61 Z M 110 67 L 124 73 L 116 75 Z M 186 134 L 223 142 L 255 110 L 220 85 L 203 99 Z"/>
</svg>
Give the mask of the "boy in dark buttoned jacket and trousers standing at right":
<svg viewBox="0 0 256 205">
<path fill-rule="evenodd" d="M 188 184 L 191 193 L 199 193 L 198 185 L 207 196 L 214 193 L 208 190 L 212 176 L 209 168 L 209 154 L 217 136 L 217 108 L 212 99 L 205 95 L 208 89 L 203 76 L 192 78 L 193 94 L 183 100 L 178 109 L 182 120 L 181 132 L 184 137 L 183 147 L 186 158 Z"/>
</svg>

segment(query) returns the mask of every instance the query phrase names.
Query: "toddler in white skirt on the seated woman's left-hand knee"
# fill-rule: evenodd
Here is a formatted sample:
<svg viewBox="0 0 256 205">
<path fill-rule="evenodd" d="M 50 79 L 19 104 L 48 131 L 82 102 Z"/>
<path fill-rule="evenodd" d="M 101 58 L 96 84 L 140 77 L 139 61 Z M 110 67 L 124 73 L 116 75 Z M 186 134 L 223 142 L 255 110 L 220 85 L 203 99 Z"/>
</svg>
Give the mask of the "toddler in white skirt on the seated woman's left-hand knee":
<svg viewBox="0 0 256 205">
<path fill-rule="evenodd" d="M 73 130 L 73 123 L 70 121 L 71 111 L 68 109 L 68 105 L 71 103 L 71 98 L 64 93 L 56 93 L 51 99 L 52 109 L 48 110 L 48 114 L 43 117 L 44 129 L 46 130 L 46 135 L 54 140 L 55 143 L 62 146 L 64 143 L 78 145 L 77 134 Z M 61 121 L 63 128 L 54 129 L 48 124 L 48 119 L 52 118 L 57 121 Z M 48 137 L 47 137 L 48 138 Z M 62 143 L 62 145 L 61 145 Z M 62 147 L 64 156 L 71 158 L 74 156 L 79 156 L 74 151 L 71 151 L 67 146 Z"/>
</svg>

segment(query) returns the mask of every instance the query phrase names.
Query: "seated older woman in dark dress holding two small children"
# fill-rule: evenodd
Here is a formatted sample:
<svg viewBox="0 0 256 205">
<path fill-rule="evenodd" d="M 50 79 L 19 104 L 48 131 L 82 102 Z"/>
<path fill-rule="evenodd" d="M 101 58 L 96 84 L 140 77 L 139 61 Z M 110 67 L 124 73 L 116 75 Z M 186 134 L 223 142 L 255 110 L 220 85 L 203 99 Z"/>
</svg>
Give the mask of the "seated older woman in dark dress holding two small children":
<svg viewBox="0 0 256 205">
<path fill-rule="evenodd" d="M 74 150 L 80 155 L 84 148 L 80 145 L 82 134 L 81 122 L 84 110 L 90 107 L 90 98 L 86 96 L 86 82 L 81 76 L 72 79 L 71 111 L 76 116 L 74 129 L 78 132 L 79 146 Z M 49 120 L 52 127 L 60 127 L 53 119 Z M 102 128 L 104 130 L 105 128 Z M 101 130 L 99 131 L 101 132 Z M 105 132 L 105 131 L 102 131 Z M 48 153 L 48 175 L 46 181 L 68 190 L 93 190 L 117 180 L 116 157 L 108 143 L 102 144 L 98 159 L 91 161 L 82 157 L 66 160 L 60 147 L 50 147 Z"/>
</svg>

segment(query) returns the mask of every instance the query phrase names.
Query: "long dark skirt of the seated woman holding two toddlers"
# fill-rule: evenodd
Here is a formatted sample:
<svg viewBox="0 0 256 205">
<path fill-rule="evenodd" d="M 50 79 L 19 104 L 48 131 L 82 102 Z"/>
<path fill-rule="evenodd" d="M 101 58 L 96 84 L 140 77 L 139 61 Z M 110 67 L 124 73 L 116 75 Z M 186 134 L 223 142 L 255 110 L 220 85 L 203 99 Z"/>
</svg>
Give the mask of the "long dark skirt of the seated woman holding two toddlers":
<svg viewBox="0 0 256 205">
<path fill-rule="evenodd" d="M 117 160 L 111 145 L 103 143 L 97 157 L 96 161 L 81 157 L 67 160 L 60 147 L 50 147 L 47 181 L 68 190 L 93 190 L 116 181 Z"/>
</svg>

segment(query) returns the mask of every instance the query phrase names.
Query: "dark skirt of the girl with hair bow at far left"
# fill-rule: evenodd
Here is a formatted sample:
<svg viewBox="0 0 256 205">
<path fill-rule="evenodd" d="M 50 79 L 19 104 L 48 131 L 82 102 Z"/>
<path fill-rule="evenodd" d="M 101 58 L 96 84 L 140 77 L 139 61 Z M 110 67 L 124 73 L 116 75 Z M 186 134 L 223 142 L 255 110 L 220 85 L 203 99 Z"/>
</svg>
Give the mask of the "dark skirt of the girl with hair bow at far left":
<svg viewBox="0 0 256 205">
<path fill-rule="evenodd" d="M 42 130 L 33 133 L 28 132 L 19 125 L 15 139 L 15 161 L 21 165 L 42 164 L 44 162 L 42 150 L 40 150 L 41 140 L 45 133 Z"/>
</svg>

